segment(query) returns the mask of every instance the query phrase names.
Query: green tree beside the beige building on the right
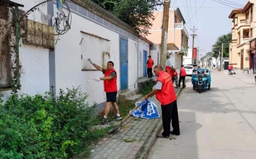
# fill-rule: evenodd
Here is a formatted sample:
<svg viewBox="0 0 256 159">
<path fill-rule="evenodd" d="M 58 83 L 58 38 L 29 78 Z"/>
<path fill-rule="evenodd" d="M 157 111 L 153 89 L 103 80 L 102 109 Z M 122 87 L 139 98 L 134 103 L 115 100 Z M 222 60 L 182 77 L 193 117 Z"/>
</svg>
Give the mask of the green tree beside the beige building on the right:
<svg viewBox="0 0 256 159">
<path fill-rule="evenodd" d="M 212 45 L 212 56 L 217 58 L 219 51 L 221 52 L 221 44 L 223 43 L 223 57 L 229 57 L 229 43 L 232 40 L 232 33 L 224 34 L 218 37 L 215 44 Z"/>
</svg>

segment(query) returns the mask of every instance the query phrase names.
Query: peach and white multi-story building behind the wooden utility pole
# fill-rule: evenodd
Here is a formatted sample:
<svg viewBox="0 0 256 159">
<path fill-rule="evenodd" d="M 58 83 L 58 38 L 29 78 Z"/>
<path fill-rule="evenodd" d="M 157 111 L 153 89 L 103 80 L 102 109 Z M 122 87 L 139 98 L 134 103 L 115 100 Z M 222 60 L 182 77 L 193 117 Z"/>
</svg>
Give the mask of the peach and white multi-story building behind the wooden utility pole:
<svg viewBox="0 0 256 159">
<path fill-rule="evenodd" d="M 162 37 L 162 19 L 163 11 L 156 11 L 153 13 L 155 20 L 152 22 L 152 27 L 149 29 L 147 38 L 155 44 L 161 43 Z M 179 8 L 171 9 L 169 11 L 168 23 L 168 40 L 167 40 L 167 58 L 169 64 L 179 68 L 183 62 L 183 55 L 187 54 L 189 33 L 184 24 L 185 20 Z"/>
</svg>

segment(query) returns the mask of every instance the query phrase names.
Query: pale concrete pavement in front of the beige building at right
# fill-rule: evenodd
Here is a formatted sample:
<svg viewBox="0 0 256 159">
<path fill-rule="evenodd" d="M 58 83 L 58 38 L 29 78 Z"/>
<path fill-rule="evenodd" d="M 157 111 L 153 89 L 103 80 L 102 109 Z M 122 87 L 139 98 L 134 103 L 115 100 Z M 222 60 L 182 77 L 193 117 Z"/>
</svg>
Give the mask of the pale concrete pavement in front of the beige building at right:
<svg viewBox="0 0 256 159">
<path fill-rule="evenodd" d="M 212 71 L 218 71 L 215 69 L 212 69 Z M 228 70 L 224 70 L 223 74 L 226 74 L 227 76 L 236 78 L 241 80 L 241 82 L 247 83 L 247 84 L 254 84 L 255 85 L 255 74 L 253 74 L 252 70 L 249 71 L 249 74 L 247 74 L 247 71 L 243 71 L 243 70 L 234 70 L 236 72 L 236 74 L 232 74 L 232 75 L 228 75 Z"/>
</svg>

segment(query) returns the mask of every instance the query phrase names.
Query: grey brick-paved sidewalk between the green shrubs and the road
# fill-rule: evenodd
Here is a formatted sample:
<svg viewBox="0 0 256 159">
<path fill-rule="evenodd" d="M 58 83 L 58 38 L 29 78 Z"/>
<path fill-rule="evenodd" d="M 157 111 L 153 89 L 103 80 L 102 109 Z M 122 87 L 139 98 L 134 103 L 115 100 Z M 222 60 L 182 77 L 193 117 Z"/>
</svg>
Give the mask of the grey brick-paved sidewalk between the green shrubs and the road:
<svg viewBox="0 0 256 159">
<path fill-rule="evenodd" d="M 180 88 L 175 91 L 178 95 Z M 155 96 L 150 100 L 157 105 L 160 118 L 139 119 L 130 116 L 121 129 L 108 134 L 98 142 L 87 159 L 145 159 L 157 132 L 162 127 L 161 105 Z"/>
</svg>

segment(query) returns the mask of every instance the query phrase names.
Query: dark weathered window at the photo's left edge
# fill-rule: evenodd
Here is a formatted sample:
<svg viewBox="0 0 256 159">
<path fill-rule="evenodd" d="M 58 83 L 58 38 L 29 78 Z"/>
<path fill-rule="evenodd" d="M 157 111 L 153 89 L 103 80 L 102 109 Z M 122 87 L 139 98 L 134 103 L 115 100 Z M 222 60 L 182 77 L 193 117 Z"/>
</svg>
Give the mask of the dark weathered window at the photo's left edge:
<svg viewBox="0 0 256 159">
<path fill-rule="evenodd" d="M 9 8 L 0 4 L 0 88 L 10 87 L 12 80 L 10 40 L 14 29 L 8 19 Z"/>
</svg>

